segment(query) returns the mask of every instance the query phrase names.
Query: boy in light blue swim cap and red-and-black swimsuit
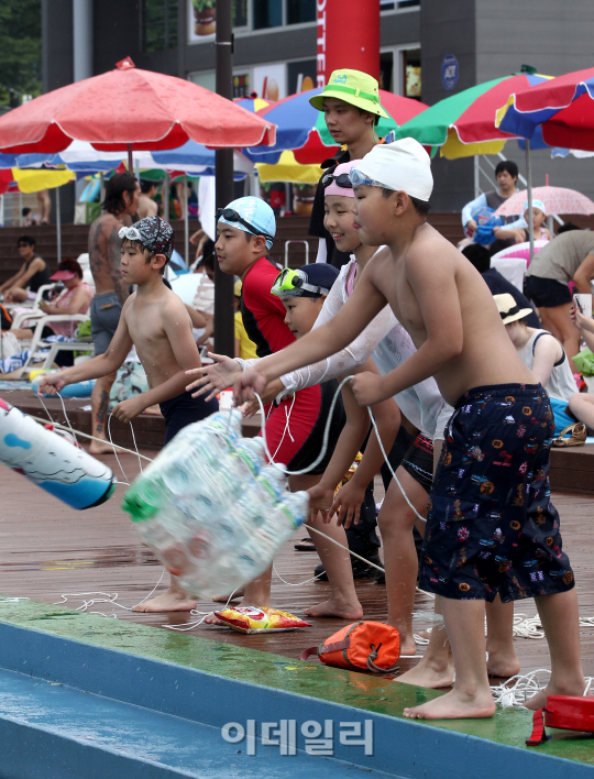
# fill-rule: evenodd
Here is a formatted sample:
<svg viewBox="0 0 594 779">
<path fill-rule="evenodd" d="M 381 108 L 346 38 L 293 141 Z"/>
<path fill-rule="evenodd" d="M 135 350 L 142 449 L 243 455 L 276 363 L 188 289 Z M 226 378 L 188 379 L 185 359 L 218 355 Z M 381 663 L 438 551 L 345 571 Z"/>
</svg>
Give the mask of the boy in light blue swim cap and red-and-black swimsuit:
<svg viewBox="0 0 594 779">
<path fill-rule="evenodd" d="M 280 268 L 268 259 L 267 252 L 276 233 L 276 220 L 272 208 L 255 197 L 242 197 L 230 202 L 227 208 L 217 211 L 217 242 L 215 245 L 217 260 L 223 273 L 241 277 L 241 314 L 248 336 L 256 344 L 258 358 L 268 356 L 282 351 L 295 341 L 295 334 L 285 323 L 286 310 L 282 299 L 272 293 Z M 286 273 L 287 284 L 295 292 L 299 289 L 306 295 L 315 288 L 315 294 L 327 289 L 333 278 L 324 271 L 323 278 L 308 281 L 308 273 L 292 271 Z M 332 273 L 332 272 L 330 272 Z M 293 287 L 288 276 L 301 284 Z M 336 275 L 336 274 L 334 274 Z M 322 293 L 327 294 L 327 293 Z M 237 373 L 241 370 L 241 361 L 213 355 L 222 370 Z M 239 364 L 238 364 L 239 363 Z M 200 369 L 189 371 L 200 375 Z M 231 380 L 232 381 L 232 380 Z M 201 386 L 200 378 L 188 388 Z M 209 387 L 202 387 L 198 394 L 206 394 Z M 283 398 L 266 420 L 266 440 L 275 462 L 286 463 L 287 470 L 299 471 L 314 463 L 322 448 L 323 430 L 330 413 L 330 405 L 336 386 L 312 386 L 297 392 L 292 398 Z M 264 398 L 264 402 L 274 398 Z M 332 457 L 336 442 L 344 424 L 342 404 L 337 403 L 330 427 L 330 440 L 324 458 L 306 474 L 289 476 L 292 491 L 308 490 L 317 484 Z M 346 546 L 344 529 L 323 525 L 324 535 L 331 535 L 343 546 Z M 320 541 L 321 539 L 321 541 Z M 363 610 L 356 597 L 349 555 L 338 550 L 323 536 L 316 534 L 314 539 L 331 586 L 330 599 L 318 606 L 306 610 L 310 616 L 339 616 L 359 619 Z M 272 568 L 258 579 L 245 586 L 242 605 L 271 605 Z M 227 600 L 227 599 L 226 599 Z M 206 623 L 217 623 L 216 617 L 207 617 Z"/>
</svg>

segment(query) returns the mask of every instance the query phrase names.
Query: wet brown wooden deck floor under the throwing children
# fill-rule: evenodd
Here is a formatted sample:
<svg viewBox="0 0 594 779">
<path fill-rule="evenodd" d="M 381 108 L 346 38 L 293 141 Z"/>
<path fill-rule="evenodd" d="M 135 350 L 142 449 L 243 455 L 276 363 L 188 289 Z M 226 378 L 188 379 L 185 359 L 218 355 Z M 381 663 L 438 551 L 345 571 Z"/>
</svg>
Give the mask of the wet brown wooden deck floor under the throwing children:
<svg viewBox="0 0 594 779">
<path fill-rule="evenodd" d="M 154 452 L 146 451 L 152 457 Z M 120 471 L 112 456 L 108 456 L 113 471 Z M 125 481 L 138 471 L 138 460 L 122 457 Z M 118 593 L 118 602 L 133 606 L 154 588 L 162 574 L 162 567 L 139 536 L 128 515 L 120 509 L 123 487 L 105 505 L 86 512 L 75 512 L 23 478 L 0 467 L 0 593 L 30 597 L 35 601 L 57 603 L 67 595 L 67 605 L 77 608 L 99 593 Z M 381 497 L 381 491 L 376 495 Z M 578 582 L 581 613 L 594 616 L 594 568 L 591 561 L 594 549 L 594 497 L 556 494 L 563 529 L 563 544 L 572 560 Z M 297 533 L 296 538 L 306 535 Z M 280 577 L 292 584 L 304 582 L 312 575 L 318 557 L 312 552 L 296 552 L 293 541 L 287 542 L 276 561 Z M 168 583 L 163 578 L 157 592 Z M 356 583 L 365 610 L 365 617 L 385 619 L 385 586 L 373 581 Z M 82 593 L 95 593 L 85 595 Z M 273 580 L 273 603 L 296 614 L 307 605 L 327 597 L 328 585 L 308 582 L 300 585 Z M 427 596 L 419 595 L 419 611 L 431 608 Z M 1 618 L 0 603 L 0 618 Z M 201 603 L 202 612 L 212 610 L 211 603 Z M 96 604 L 89 611 L 102 612 L 109 617 L 132 619 L 155 627 L 187 623 L 188 613 L 138 614 L 111 604 Z M 534 615 L 534 601 L 516 604 L 516 612 Z M 297 658 L 300 651 L 314 646 L 345 624 L 338 619 L 314 619 L 312 627 L 296 633 L 244 636 L 227 628 L 200 626 L 195 633 L 205 638 L 250 646 L 265 651 Z M 418 629 L 422 629 L 419 623 Z M 582 652 L 586 674 L 594 676 L 594 626 L 583 627 Z M 516 639 L 522 671 L 550 667 L 544 640 Z M 422 648 L 419 648 L 422 651 Z M 413 661 L 403 660 L 403 670 Z"/>
</svg>

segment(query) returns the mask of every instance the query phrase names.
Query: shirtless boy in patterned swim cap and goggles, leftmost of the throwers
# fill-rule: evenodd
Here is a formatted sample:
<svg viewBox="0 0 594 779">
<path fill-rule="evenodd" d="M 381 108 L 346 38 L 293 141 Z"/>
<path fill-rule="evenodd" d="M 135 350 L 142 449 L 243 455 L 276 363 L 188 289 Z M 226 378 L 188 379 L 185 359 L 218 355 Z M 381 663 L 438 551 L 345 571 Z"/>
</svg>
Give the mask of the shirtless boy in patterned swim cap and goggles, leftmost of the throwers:
<svg viewBox="0 0 594 779">
<path fill-rule="evenodd" d="M 195 399 L 185 392 L 185 371 L 199 365 L 200 355 L 184 303 L 163 284 L 163 271 L 174 248 L 170 224 L 161 217 L 148 217 L 134 227 L 120 228 L 119 234 L 122 283 L 138 284 L 138 292 L 124 303 L 107 350 L 82 365 L 44 376 L 38 392 L 55 394 L 66 384 L 114 374 L 135 345 L 150 388 L 119 403 L 113 416 L 130 421 L 158 403 L 165 417 L 167 443 L 183 427 L 204 419 L 219 406 L 216 401 Z M 167 611 L 167 606 L 179 604 L 179 592 L 183 591 L 172 577 L 169 590 L 143 603 L 139 611 Z M 196 602 L 186 604 L 185 608 L 193 608 L 193 603 Z"/>
</svg>

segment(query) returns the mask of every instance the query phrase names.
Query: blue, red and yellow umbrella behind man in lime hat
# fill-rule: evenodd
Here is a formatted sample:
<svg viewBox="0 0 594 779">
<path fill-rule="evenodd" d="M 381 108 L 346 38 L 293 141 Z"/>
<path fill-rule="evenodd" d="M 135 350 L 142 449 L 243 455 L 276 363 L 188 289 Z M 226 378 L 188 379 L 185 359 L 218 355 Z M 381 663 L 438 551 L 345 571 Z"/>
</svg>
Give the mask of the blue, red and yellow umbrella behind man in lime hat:
<svg viewBox="0 0 594 779">
<path fill-rule="evenodd" d="M 302 165 L 319 165 L 338 150 L 326 127 L 323 112 L 309 103 L 309 98 L 321 92 L 321 87 L 290 95 L 273 106 L 258 111 L 258 116 L 271 124 L 276 124 L 276 143 L 262 149 L 244 150 L 254 162 L 275 164 L 284 151 L 293 151 L 295 160 Z M 389 119 L 380 118 L 377 134 L 387 135 L 403 122 L 407 122 L 427 109 L 425 103 L 410 98 L 380 90 L 383 108 Z"/>
</svg>

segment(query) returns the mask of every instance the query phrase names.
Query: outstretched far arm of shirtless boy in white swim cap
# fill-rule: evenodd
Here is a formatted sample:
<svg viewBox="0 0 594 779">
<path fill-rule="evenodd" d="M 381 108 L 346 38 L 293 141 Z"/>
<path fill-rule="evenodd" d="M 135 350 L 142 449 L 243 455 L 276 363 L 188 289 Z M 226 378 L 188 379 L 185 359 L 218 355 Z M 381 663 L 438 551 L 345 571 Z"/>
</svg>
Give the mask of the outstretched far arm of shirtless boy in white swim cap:
<svg viewBox="0 0 594 779">
<path fill-rule="evenodd" d="M 311 330 L 276 354 L 258 360 L 235 381 L 235 401 L 250 401 L 254 392 L 262 394 L 266 384 L 297 367 L 319 362 L 348 347 L 384 308 L 387 300 L 372 283 L 370 261 L 353 294 L 336 317 Z"/>
</svg>

